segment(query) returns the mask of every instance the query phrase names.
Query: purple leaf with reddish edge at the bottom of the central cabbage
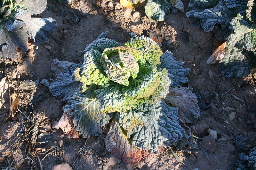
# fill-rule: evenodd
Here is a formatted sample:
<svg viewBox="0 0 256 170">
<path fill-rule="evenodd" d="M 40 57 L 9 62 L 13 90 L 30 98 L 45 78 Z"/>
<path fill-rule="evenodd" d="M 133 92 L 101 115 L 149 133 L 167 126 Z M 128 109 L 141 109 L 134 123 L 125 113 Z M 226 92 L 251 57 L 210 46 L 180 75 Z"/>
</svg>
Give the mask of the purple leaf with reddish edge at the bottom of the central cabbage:
<svg viewBox="0 0 256 170">
<path fill-rule="evenodd" d="M 126 131 L 123 130 L 117 121 L 111 123 L 111 127 L 105 138 L 105 145 L 109 152 L 113 153 L 124 164 L 138 164 L 143 158 L 148 156 L 148 152 L 133 147 L 127 138 Z"/>
</svg>

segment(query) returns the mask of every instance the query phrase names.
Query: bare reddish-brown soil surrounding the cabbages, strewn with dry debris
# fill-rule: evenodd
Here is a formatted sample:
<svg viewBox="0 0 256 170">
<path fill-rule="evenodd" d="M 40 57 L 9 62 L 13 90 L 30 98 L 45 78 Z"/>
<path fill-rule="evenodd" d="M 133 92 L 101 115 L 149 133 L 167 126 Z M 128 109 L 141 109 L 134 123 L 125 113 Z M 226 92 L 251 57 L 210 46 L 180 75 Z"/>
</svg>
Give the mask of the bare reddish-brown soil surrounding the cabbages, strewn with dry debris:
<svg viewBox="0 0 256 170">
<path fill-rule="evenodd" d="M 185 8 L 188 2 L 184 0 Z M 224 78 L 216 65 L 206 64 L 221 42 L 213 33 L 192 26 L 185 13 L 170 13 L 164 22 L 153 22 L 145 16 L 143 4 L 132 10 L 122 8 L 116 0 L 71 0 L 70 3 L 49 0 L 46 10 L 37 17 L 56 19 L 58 29 L 50 41 L 30 46 L 25 55 L 15 60 L 6 60 L 6 70 L 4 61 L 1 63 L 1 79 L 8 75 L 10 94 L 19 94 L 18 108 L 22 111 L 6 120 L 9 92 L 1 94 L 7 107 L 0 110 L 1 168 L 10 164 L 14 169 L 50 170 L 57 169 L 57 164 L 68 163 L 73 169 L 91 170 L 187 170 L 188 166 L 199 170 L 227 170 L 232 169 L 239 153 L 256 146 L 256 121 L 252 114 L 256 109 L 256 97 L 252 77 Z M 162 44 L 163 51 L 172 51 L 178 61 L 185 61 L 185 67 L 191 72 L 184 86 L 189 85 L 193 92 L 201 92 L 204 96 L 200 98 L 201 117 L 188 125 L 193 135 L 201 139 L 191 137 L 189 141 L 207 152 L 210 161 L 202 151 L 182 142 L 176 154 L 188 166 L 181 164 L 169 147 L 138 165 L 126 167 L 106 150 L 103 140 L 106 133 L 89 139 L 69 139 L 61 130 L 50 128 L 47 132 L 52 137 L 47 143 L 31 142 L 33 123 L 38 125 L 39 133 L 44 132 L 46 124 L 51 126 L 60 119 L 65 103 L 53 97 L 42 83 L 30 88 L 20 88 L 18 84 L 26 80 L 51 81 L 54 58 L 81 62 L 83 50 L 103 31 L 108 31 L 109 38 L 120 43 L 127 41 L 131 32 L 150 36 Z M 24 121 L 24 115 L 34 119 Z M 107 132 L 108 128 L 104 130 Z M 217 139 L 209 136 L 208 129 L 217 132 Z M 242 143 L 244 150 L 232 140 L 238 135 L 248 138 Z M 71 168 L 69 166 L 62 164 L 62 169 Z"/>
</svg>

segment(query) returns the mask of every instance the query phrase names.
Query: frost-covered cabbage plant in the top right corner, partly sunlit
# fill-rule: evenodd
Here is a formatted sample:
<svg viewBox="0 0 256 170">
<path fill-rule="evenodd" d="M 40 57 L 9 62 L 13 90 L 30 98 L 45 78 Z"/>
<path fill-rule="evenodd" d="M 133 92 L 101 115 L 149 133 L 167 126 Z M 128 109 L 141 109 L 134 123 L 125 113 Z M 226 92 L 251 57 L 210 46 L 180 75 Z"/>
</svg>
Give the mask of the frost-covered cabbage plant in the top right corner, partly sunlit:
<svg viewBox="0 0 256 170">
<path fill-rule="evenodd" d="M 256 0 L 190 0 L 186 15 L 197 28 L 227 40 L 218 63 L 223 76 L 244 77 L 256 68 Z"/>
</svg>

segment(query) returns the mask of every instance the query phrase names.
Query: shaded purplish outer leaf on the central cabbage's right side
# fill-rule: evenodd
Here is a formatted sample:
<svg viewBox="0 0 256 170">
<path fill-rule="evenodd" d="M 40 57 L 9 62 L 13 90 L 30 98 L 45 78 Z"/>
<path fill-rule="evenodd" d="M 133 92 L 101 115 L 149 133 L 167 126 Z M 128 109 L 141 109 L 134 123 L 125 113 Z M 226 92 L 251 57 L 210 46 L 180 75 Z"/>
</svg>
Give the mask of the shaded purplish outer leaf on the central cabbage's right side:
<svg viewBox="0 0 256 170">
<path fill-rule="evenodd" d="M 195 122 L 201 112 L 197 97 L 189 87 L 171 87 L 164 101 L 179 110 L 179 118 L 185 123 Z"/>
</svg>

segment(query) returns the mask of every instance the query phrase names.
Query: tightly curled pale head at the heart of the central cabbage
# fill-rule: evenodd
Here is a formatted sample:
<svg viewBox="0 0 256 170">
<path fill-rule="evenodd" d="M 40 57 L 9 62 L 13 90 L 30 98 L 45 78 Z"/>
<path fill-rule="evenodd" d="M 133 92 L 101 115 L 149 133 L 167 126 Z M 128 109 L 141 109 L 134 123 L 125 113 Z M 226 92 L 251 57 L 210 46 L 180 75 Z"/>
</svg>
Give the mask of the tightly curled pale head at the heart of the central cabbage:
<svg viewBox="0 0 256 170">
<path fill-rule="evenodd" d="M 130 52 L 131 51 L 131 52 Z M 139 72 L 139 64 L 132 53 L 138 50 L 130 47 L 106 48 L 101 56 L 101 63 L 108 78 L 121 85 L 129 85 L 129 78 L 136 78 Z"/>
</svg>

